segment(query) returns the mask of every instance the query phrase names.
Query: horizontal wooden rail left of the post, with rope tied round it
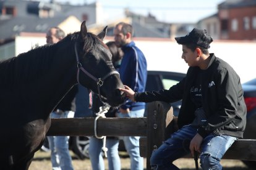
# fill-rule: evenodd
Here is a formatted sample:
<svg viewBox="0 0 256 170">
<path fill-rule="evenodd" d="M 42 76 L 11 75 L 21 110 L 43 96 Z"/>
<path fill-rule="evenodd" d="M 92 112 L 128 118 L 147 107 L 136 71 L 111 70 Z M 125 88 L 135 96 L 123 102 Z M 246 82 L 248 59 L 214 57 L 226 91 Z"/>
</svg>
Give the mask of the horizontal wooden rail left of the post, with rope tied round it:
<svg viewBox="0 0 256 170">
<path fill-rule="evenodd" d="M 47 136 L 94 136 L 95 118 L 51 119 Z M 147 136 L 147 118 L 99 118 L 98 136 Z"/>
</svg>

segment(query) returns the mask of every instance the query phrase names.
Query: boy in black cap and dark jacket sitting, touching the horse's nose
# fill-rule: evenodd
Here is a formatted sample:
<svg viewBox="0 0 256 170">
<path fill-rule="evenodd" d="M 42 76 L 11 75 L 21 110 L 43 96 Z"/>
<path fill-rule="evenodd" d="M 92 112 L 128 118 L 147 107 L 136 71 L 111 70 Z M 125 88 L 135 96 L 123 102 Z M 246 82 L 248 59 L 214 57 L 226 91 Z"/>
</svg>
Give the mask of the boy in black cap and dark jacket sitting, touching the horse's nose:
<svg viewBox="0 0 256 170">
<path fill-rule="evenodd" d="M 169 90 L 137 93 L 127 86 L 120 90 L 137 102 L 182 99 L 180 129 L 152 153 L 153 169 L 178 169 L 173 161 L 187 155 L 187 150 L 192 156 L 200 153 L 202 169 L 222 169 L 222 156 L 245 130 L 246 106 L 240 78 L 228 63 L 209 54 L 213 40 L 206 30 L 194 28 L 175 39 L 182 44 L 182 59 L 189 65 L 182 81 Z M 184 145 L 186 141 L 190 145 Z"/>
</svg>

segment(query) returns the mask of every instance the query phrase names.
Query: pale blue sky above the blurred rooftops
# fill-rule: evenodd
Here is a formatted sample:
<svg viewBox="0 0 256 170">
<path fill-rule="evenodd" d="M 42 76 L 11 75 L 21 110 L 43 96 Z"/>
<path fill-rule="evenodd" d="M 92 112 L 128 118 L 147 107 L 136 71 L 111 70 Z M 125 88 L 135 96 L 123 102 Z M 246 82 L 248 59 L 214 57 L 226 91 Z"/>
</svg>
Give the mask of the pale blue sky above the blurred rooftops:
<svg viewBox="0 0 256 170">
<path fill-rule="evenodd" d="M 48 1 L 48 0 L 45 0 Z M 95 0 L 56 0 L 70 4 L 90 4 Z M 155 15 L 163 22 L 197 22 L 215 14 L 218 4 L 224 0 L 98 0 L 103 6 L 105 19 L 116 19 L 124 16 L 124 8 L 138 14 Z"/>
</svg>

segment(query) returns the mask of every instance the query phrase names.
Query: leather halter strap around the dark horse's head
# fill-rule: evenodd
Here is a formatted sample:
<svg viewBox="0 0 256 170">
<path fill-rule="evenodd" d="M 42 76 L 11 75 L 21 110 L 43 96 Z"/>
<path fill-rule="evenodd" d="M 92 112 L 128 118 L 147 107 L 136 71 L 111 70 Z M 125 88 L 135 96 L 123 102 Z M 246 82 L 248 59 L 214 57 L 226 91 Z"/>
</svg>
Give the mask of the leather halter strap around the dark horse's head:
<svg viewBox="0 0 256 170">
<path fill-rule="evenodd" d="M 99 98 L 100 98 L 101 102 L 103 102 L 103 100 L 101 99 L 101 95 L 100 95 L 100 87 L 103 86 L 103 83 L 104 83 L 105 79 L 107 79 L 109 76 L 111 76 L 111 75 L 119 75 L 118 71 L 116 71 L 116 70 L 110 71 L 103 78 L 95 78 L 95 76 L 90 74 L 88 71 L 86 71 L 82 67 L 82 64 L 79 61 L 79 55 L 78 55 L 78 52 L 77 52 L 77 42 L 75 42 L 75 57 L 77 59 L 77 82 L 79 83 L 79 74 L 80 74 L 80 70 L 82 70 L 82 72 L 85 73 L 85 75 L 87 75 L 88 77 L 92 78 L 96 82 Z M 103 103 L 105 103 L 105 102 L 103 102 Z"/>
</svg>

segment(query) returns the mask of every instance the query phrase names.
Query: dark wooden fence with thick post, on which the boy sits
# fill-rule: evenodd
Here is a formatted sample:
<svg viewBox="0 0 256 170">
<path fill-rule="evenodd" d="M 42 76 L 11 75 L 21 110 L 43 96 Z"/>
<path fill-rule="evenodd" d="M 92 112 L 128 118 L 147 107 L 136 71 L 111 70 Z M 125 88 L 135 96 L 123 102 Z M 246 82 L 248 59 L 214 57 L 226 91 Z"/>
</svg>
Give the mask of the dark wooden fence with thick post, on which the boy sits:
<svg viewBox="0 0 256 170">
<path fill-rule="evenodd" d="M 98 136 L 142 136 L 140 156 L 147 157 L 150 169 L 151 153 L 177 130 L 177 118 L 165 102 L 151 102 L 147 113 L 147 118 L 99 118 L 96 129 Z M 94 136 L 94 121 L 94 118 L 51 119 L 47 136 Z M 223 158 L 256 161 L 256 140 L 237 140 Z"/>
</svg>

